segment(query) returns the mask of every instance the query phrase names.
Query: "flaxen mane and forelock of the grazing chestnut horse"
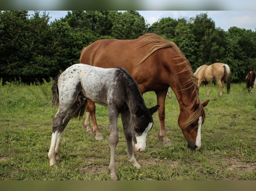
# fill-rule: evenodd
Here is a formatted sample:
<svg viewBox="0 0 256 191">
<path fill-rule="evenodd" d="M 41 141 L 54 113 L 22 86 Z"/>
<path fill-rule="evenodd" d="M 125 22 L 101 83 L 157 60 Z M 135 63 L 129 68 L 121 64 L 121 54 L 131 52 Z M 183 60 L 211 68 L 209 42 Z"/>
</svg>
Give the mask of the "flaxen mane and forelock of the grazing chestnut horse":
<svg viewBox="0 0 256 191">
<path fill-rule="evenodd" d="M 141 64 L 142 62 L 144 62 L 155 51 L 162 49 L 162 48 L 172 47 L 174 49 L 174 51 L 177 53 L 177 55 L 176 55 L 177 57 L 175 58 L 175 60 L 176 59 L 183 60 L 183 62 L 181 62 L 177 65 L 183 65 L 184 68 L 182 71 L 178 72 L 177 74 L 180 74 L 180 73 L 186 71 L 186 72 L 188 72 L 188 76 L 189 76 L 188 80 L 182 85 L 182 87 L 184 87 L 184 88 L 179 91 L 193 88 L 191 91 L 191 97 L 192 97 L 192 95 L 194 95 L 195 98 L 192 101 L 191 105 L 193 106 L 196 103 L 200 103 L 199 88 L 198 88 L 197 81 L 194 76 L 193 70 L 191 68 L 189 61 L 186 59 L 186 57 L 183 55 L 183 53 L 180 51 L 180 49 L 177 47 L 177 45 L 173 42 L 167 41 L 166 39 L 164 39 L 156 34 L 145 34 L 145 35 L 139 37 L 139 39 L 141 39 L 141 40 L 134 44 L 134 46 L 133 46 L 134 48 L 138 49 L 138 48 L 141 48 L 141 47 L 147 46 L 147 45 L 150 45 L 150 48 L 147 51 L 147 53 L 144 55 L 144 57 L 141 59 L 141 61 L 138 63 L 138 65 Z M 187 125 L 196 121 L 202 115 L 203 115 L 202 120 L 204 120 L 205 119 L 205 110 L 204 110 L 202 104 L 200 104 L 199 108 L 197 110 L 195 110 L 195 112 L 193 112 L 193 114 L 190 115 L 189 118 L 182 124 L 183 128 L 185 128 Z"/>
</svg>

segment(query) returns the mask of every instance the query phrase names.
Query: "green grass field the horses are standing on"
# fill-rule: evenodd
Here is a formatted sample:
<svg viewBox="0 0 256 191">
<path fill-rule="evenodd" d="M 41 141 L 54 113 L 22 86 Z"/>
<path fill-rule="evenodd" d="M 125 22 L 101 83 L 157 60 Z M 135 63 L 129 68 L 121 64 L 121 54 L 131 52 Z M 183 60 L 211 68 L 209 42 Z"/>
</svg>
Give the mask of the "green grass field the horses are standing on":
<svg viewBox="0 0 256 191">
<path fill-rule="evenodd" d="M 2 83 L 0 83 L 2 84 Z M 0 180 L 110 180 L 108 171 L 108 109 L 97 105 L 96 117 L 105 140 L 86 133 L 83 119 L 72 119 L 60 146 L 62 162 L 49 167 L 47 157 L 51 122 L 51 83 L 24 85 L 19 81 L 0 86 Z M 117 176 L 120 180 L 256 180 L 256 92 L 248 94 L 245 83 L 231 84 L 231 92 L 219 96 L 219 87 L 200 88 L 206 106 L 200 151 L 186 148 L 178 127 L 178 102 L 166 98 L 166 131 L 172 145 L 157 140 L 159 120 L 153 115 L 146 150 L 135 153 L 142 170 L 127 161 L 121 120 L 116 148 Z M 156 104 L 153 92 L 143 95 L 146 105 Z M 134 151 L 135 152 L 135 151 Z"/>
</svg>

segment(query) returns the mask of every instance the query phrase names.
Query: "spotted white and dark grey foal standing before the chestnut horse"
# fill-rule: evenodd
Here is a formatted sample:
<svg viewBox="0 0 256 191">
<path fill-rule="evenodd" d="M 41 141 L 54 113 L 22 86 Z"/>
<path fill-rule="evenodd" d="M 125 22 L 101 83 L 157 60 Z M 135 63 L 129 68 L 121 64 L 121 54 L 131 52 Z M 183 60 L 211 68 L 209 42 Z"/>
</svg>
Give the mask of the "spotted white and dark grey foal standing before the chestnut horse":
<svg viewBox="0 0 256 191">
<path fill-rule="evenodd" d="M 59 108 L 52 120 L 51 146 L 48 152 L 50 166 L 57 167 L 59 145 L 63 130 L 73 116 L 83 114 L 87 99 L 107 106 L 110 123 L 110 163 L 112 179 L 117 179 L 115 150 L 118 143 L 117 120 L 119 113 L 123 123 L 128 161 L 141 169 L 132 151 L 132 139 L 135 150 L 142 152 L 146 147 L 146 136 L 152 128 L 152 114 L 159 105 L 145 106 L 138 85 L 124 69 L 103 69 L 85 64 L 75 64 L 66 69 L 52 86 L 52 104 Z"/>
</svg>

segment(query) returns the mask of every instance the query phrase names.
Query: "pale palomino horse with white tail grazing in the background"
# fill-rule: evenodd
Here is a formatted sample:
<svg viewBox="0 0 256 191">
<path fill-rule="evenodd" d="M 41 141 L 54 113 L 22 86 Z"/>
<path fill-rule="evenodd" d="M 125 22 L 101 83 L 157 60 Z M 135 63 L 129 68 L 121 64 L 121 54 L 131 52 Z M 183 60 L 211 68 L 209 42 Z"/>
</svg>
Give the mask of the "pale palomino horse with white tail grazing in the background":
<svg viewBox="0 0 256 191">
<path fill-rule="evenodd" d="M 231 74 L 230 68 L 227 64 L 214 63 L 210 66 L 202 65 L 194 73 L 198 87 L 200 88 L 202 82 L 206 82 L 207 95 L 209 96 L 209 82 L 217 81 L 220 87 L 220 95 L 223 94 L 223 82 L 226 81 L 227 92 L 230 91 Z"/>
</svg>

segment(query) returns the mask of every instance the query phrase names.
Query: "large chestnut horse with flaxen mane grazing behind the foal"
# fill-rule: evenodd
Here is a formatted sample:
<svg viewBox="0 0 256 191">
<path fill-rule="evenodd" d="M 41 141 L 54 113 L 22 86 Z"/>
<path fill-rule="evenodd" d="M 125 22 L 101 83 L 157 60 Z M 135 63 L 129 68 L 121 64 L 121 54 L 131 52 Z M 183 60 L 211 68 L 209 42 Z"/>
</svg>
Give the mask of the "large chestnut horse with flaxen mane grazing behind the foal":
<svg viewBox="0 0 256 191">
<path fill-rule="evenodd" d="M 199 88 L 189 61 L 179 48 L 156 34 L 146 34 L 135 40 L 102 39 L 83 49 L 80 63 L 102 68 L 125 68 L 136 80 L 139 90 L 154 91 L 157 96 L 160 129 L 158 138 L 163 145 L 171 141 L 165 132 L 165 97 L 171 87 L 179 102 L 179 127 L 191 149 L 200 149 L 201 125 L 204 123 L 204 106 L 200 102 Z M 88 132 L 102 137 L 95 118 L 95 104 L 87 103 L 85 126 Z M 90 127 L 90 114 L 93 129 Z"/>
</svg>

